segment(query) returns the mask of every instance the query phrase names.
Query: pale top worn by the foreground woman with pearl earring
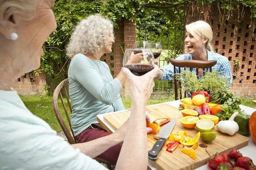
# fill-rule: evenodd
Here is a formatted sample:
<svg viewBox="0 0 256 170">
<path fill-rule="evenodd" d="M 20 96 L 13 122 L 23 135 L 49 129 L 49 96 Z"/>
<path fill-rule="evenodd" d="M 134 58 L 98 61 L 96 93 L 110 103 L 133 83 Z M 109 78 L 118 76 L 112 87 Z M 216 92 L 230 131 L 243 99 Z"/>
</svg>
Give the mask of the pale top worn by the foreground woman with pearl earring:
<svg viewBox="0 0 256 170">
<path fill-rule="evenodd" d="M 0 90 L 0 169 L 106 169 L 73 149 L 16 91 Z"/>
</svg>

